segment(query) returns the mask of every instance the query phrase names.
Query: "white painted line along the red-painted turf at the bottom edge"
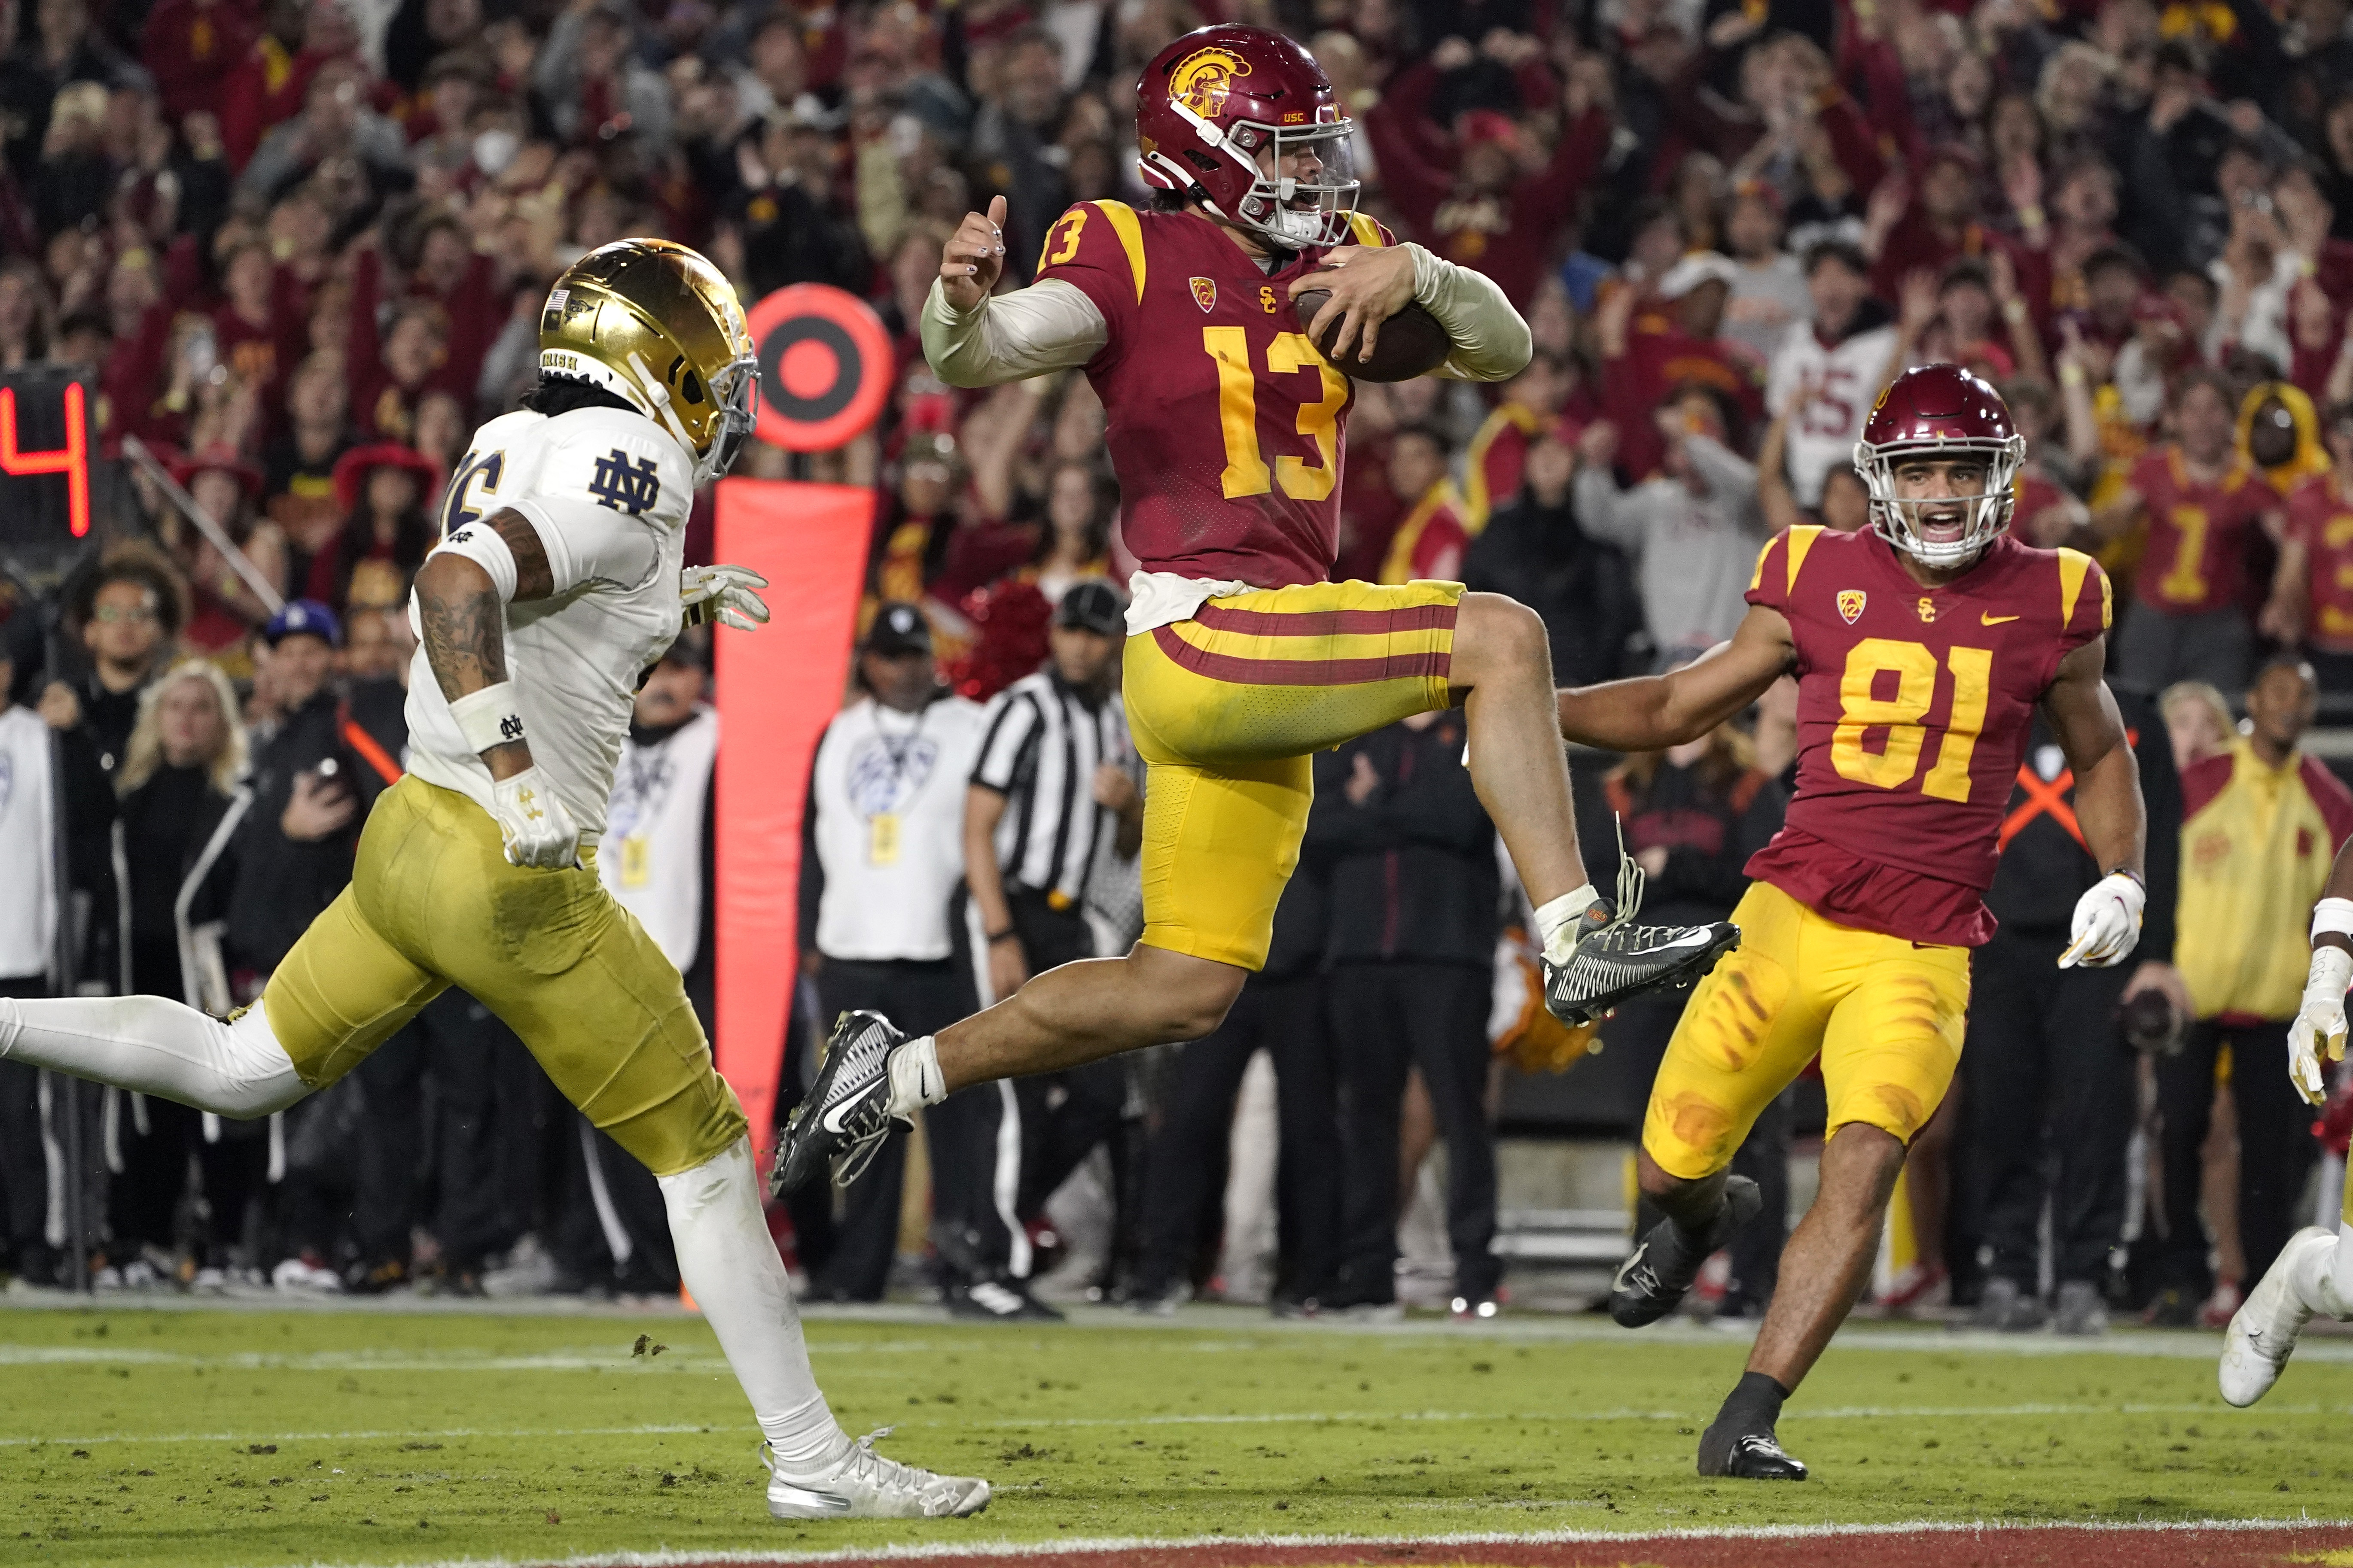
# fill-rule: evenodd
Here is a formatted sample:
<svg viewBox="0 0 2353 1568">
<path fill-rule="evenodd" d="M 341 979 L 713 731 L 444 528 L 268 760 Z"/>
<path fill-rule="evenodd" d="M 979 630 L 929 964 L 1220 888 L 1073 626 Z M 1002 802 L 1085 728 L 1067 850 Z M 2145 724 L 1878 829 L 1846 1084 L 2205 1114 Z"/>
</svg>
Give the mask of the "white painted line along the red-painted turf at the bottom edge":
<svg viewBox="0 0 2353 1568">
<path fill-rule="evenodd" d="M 1080 1540 L 995 1540 L 995 1542 L 925 1542 L 920 1547 L 833 1547 L 831 1552 L 600 1552 L 595 1556 L 449 1556 L 433 1563 L 405 1559 L 400 1568 L 685 1568 L 689 1563 L 866 1563 L 866 1561 L 955 1561 L 969 1556 L 1085 1556 L 1108 1552 L 1186 1552 L 1198 1547 L 1605 1547 L 1638 1540 L 1838 1540 L 1845 1535 L 2085 1535 L 2144 1533 L 2247 1533 L 2247 1530 L 2329 1530 L 2353 1519 L 2151 1519 L 2146 1523 L 2104 1519 L 2094 1523 L 2017 1523 L 2009 1519 L 1922 1519 L 1915 1523 L 1779 1523 L 1727 1526 L 1720 1530 L 1464 1530 L 1449 1535 L 1094 1535 Z M 391 1568 L 315 1561 L 311 1568 Z"/>
</svg>

